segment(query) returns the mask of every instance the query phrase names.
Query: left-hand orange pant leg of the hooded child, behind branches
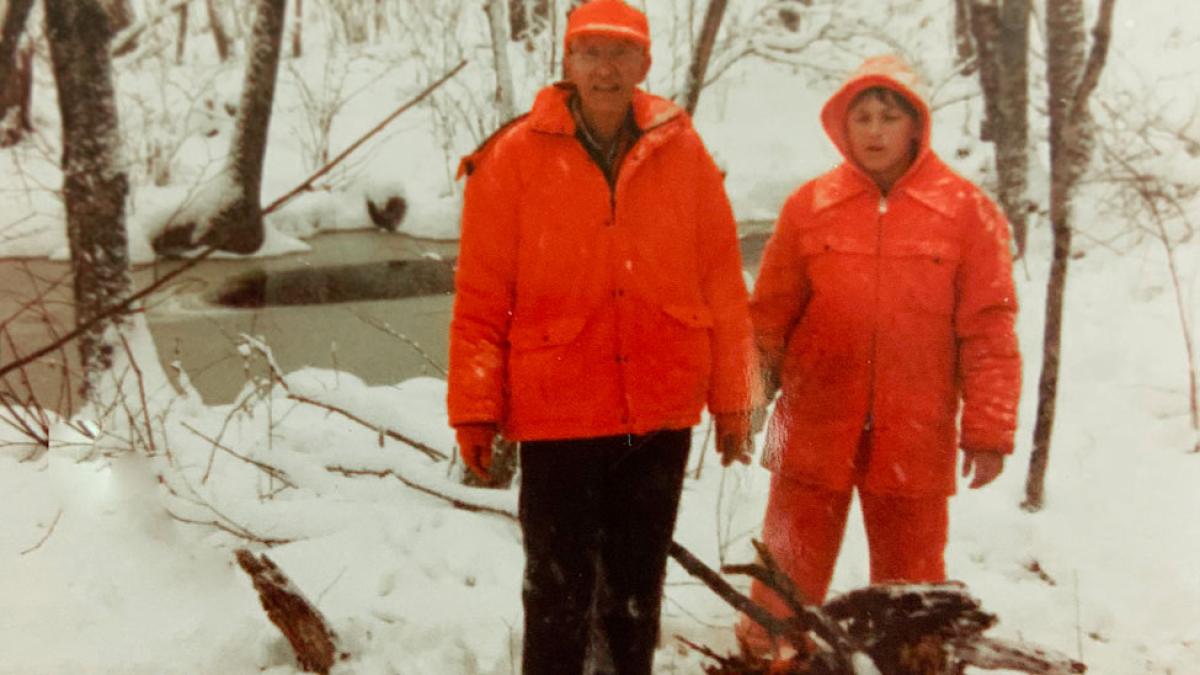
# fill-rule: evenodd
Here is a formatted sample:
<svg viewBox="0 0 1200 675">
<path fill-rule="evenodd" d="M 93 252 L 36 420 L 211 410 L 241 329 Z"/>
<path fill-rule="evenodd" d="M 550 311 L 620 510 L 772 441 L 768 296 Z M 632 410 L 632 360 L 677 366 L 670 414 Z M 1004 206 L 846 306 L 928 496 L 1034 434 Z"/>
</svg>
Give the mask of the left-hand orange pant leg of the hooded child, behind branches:
<svg viewBox="0 0 1200 675">
<path fill-rule="evenodd" d="M 770 479 L 762 540 L 779 567 L 792 579 L 808 604 L 824 602 L 846 530 L 850 492 L 836 492 L 791 480 L 775 473 Z M 750 584 L 750 599 L 775 616 L 791 616 L 787 604 L 763 584 Z M 767 632 L 743 616 L 738 639 L 751 651 L 775 649 Z"/>
</svg>

